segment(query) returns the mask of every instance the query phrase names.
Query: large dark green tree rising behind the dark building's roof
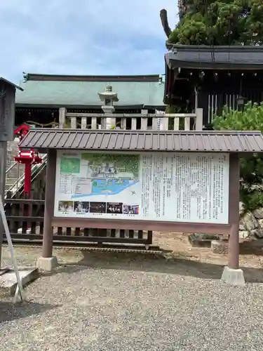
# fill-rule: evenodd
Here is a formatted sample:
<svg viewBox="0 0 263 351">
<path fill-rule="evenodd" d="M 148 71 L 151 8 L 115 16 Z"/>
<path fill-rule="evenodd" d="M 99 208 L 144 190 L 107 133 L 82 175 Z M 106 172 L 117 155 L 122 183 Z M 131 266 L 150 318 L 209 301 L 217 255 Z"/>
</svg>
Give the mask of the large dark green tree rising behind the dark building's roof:
<svg viewBox="0 0 263 351">
<path fill-rule="evenodd" d="M 262 0 L 181 0 L 180 22 L 168 43 L 262 45 Z"/>
</svg>

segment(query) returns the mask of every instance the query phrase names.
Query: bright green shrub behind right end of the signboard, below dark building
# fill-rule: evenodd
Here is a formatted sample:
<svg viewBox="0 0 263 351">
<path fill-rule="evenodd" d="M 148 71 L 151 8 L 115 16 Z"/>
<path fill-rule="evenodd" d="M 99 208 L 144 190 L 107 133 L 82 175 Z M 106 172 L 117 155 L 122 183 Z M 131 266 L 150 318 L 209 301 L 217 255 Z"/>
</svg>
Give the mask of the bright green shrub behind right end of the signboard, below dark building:
<svg viewBox="0 0 263 351">
<path fill-rule="evenodd" d="M 260 105 L 248 102 L 243 111 L 223 110 L 215 117 L 216 130 L 261 131 L 263 133 L 263 102 Z M 263 207 L 263 155 L 252 154 L 241 159 L 240 197 L 246 210 Z"/>
</svg>

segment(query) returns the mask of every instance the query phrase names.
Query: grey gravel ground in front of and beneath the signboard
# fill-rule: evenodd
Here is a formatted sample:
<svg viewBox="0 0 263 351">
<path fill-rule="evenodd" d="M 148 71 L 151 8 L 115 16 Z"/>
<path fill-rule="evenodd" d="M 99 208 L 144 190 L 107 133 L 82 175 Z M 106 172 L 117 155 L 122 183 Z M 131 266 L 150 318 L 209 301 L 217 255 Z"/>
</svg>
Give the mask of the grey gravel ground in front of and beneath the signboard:
<svg viewBox="0 0 263 351">
<path fill-rule="evenodd" d="M 30 284 L 27 303 L 0 295 L 1 350 L 263 350 L 261 283 L 228 286 L 222 267 L 187 260 L 77 256 Z"/>
</svg>

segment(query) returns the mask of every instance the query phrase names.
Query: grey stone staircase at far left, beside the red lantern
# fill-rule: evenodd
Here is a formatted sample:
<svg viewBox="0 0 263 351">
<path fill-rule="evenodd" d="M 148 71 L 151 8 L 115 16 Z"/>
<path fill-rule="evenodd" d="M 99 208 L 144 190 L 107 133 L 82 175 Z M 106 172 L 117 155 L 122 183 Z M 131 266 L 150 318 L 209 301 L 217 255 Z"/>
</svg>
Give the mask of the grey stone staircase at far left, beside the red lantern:
<svg viewBox="0 0 263 351">
<path fill-rule="evenodd" d="M 18 164 L 14 161 L 14 157 L 18 154 L 19 140 L 10 141 L 7 144 L 7 157 L 6 157 L 6 191 L 12 185 L 17 183 L 18 178 L 25 173 L 25 165 Z M 13 166 L 11 168 L 11 166 Z M 9 171 L 8 171 L 9 169 Z"/>
</svg>

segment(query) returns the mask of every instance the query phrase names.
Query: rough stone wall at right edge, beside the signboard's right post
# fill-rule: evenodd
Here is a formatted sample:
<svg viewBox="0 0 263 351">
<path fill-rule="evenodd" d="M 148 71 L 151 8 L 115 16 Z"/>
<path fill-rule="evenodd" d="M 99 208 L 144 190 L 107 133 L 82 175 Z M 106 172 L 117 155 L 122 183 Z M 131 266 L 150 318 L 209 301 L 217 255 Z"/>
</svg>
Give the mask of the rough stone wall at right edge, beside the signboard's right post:
<svg viewBox="0 0 263 351">
<path fill-rule="evenodd" d="M 247 237 L 255 237 L 255 239 L 263 238 L 263 208 L 252 212 L 245 212 L 243 204 L 240 202 L 239 216 L 239 237 L 241 239 Z"/>
</svg>

